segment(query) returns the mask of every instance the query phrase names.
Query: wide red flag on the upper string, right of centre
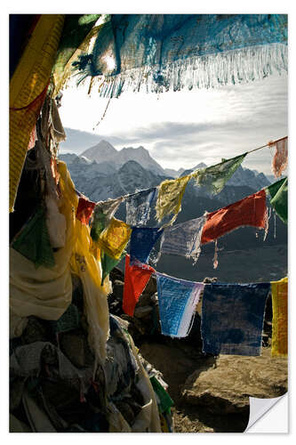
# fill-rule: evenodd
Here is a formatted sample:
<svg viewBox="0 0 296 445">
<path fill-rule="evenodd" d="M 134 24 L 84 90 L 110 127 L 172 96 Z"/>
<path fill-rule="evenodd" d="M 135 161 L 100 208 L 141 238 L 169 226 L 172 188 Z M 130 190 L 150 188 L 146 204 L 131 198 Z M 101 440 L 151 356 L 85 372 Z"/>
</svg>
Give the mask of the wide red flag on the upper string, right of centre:
<svg viewBox="0 0 296 445">
<path fill-rule="evenodd" d="M 244 225 L 264 229 L 267 221 L 266 193 L 265 190 L 260 190 L 234 204 L 207 214 L 202 232 L 202 244 L 214 241 Z"/>
</svg>

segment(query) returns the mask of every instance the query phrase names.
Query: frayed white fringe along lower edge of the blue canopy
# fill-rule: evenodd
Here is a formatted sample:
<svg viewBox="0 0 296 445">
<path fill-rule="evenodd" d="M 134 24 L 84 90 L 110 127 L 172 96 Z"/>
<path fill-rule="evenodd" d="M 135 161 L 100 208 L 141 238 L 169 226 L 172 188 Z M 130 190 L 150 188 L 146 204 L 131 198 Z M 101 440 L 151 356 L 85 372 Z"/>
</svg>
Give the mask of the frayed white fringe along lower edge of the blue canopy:
<svg viewBox="0 0 296 445">
<path fill-rule="evenodd" d="M 161 67 L 145 66 L 97 80 L 102 97 L 118 97 L 123 92 L 164 93 L 235 85 L 287 70 L 288 47 L 276 43 L 190 57 Z"/>
</svg>

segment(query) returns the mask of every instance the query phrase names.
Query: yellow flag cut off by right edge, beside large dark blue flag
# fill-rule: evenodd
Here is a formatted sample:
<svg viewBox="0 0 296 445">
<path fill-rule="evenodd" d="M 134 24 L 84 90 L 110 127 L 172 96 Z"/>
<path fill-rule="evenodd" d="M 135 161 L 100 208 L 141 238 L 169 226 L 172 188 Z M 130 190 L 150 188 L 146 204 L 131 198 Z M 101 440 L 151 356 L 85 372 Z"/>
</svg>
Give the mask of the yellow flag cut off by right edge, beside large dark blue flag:
<svg viewBox="0 0 296 445">
<path fill-rule="evenodd" d="M 286 357 L 288 354 L 288 277 L 271 281 L 272 344 L 271 355 Z"/>
</svg>

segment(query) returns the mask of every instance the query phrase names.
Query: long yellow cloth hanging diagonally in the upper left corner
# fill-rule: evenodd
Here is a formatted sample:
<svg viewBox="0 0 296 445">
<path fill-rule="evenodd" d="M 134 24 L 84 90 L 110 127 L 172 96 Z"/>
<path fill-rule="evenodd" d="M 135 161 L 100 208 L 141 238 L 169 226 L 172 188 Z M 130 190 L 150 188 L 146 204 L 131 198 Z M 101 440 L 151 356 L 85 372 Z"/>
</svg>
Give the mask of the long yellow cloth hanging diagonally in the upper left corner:
<svg viewBox="0 0 296 445">
<path fill-rule="evenodd" d="M 64 24 L 62 14 L 42 14 L 10 82 L 9 211 L 13 211 L 30 134 L 36 125 Z"/>
</svg>

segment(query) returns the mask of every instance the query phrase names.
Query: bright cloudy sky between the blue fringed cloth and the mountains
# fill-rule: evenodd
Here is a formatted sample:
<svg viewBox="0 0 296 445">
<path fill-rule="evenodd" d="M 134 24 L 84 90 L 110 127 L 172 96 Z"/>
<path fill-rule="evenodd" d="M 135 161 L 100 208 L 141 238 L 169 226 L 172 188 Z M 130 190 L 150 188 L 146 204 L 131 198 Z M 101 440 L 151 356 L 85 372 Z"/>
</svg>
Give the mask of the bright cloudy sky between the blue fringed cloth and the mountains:
<svg viewBox="0 0 296 445">
<path fill-rule="evenodd" d="M 80 134 L 73 146 L 63 144 L 61 152 L 80 154 L 97 143 L 95 135 L 116 150 L 143 146 L 161 166 L 179 170 L 200 162 L 213 165 L 288 132 L 285 74 L 196 92 L 123 93 L 109 104 L 95 90 L 88 96 L 87 89 L 72 83 L 63 91 L 63 125 L 87 134 Z M 245 158 L 244 166 L 271 174 L 271 160 L 267 148 Z"/>
</svg>

